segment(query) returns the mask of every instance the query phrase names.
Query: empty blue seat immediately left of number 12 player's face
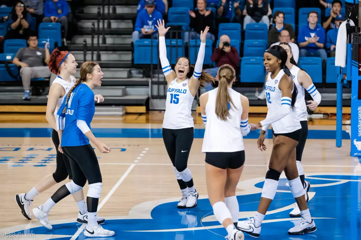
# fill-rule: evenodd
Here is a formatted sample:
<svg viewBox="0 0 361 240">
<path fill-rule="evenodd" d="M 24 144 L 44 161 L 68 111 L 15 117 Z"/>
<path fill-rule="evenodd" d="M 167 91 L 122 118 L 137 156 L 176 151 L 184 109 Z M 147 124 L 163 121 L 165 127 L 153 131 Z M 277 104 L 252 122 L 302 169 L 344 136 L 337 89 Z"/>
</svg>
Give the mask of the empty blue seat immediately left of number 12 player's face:
<svg viewBox="0 0 361 240">
<path fill-rule="evenodd" d="M 241 82 L 265 82 L 263 57 L 243 57 L 241 61 Z"/>
</svg>

